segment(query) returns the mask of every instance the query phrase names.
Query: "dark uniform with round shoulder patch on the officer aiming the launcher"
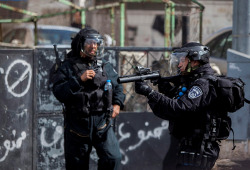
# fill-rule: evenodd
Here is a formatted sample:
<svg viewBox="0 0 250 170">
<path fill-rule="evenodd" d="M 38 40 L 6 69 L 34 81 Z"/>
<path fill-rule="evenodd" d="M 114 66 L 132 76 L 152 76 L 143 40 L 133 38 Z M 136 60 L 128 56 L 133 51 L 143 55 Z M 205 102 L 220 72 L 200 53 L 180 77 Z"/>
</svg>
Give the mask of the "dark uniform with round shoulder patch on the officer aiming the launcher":
<svg viewBox="0 0 250 170">
<path fill-rule="evenodd" d="M 205 64 L 191 72 L 180 87 L 171 92 L 172 96 L 156 91 L 148 96 L 153 113 L 169 120 L 170 134 L 173 141 L 178 142 L 173 144 L 177 148 L 171 148 L 178 153 L 176 158 L 175 154 L 171 155 L 172 160 L 176 160 L 172 163 L 177 164 L 174 169 L 210 170 L 218 158 L 219 145 L 211 136 L 211 117 L 219 114 L 214 107 L 217 94 L 209 80 L 203 78 L 212 74 L 210 65 Z M 187 90 L 180 94 L 183 85 Z"/>
</svg>

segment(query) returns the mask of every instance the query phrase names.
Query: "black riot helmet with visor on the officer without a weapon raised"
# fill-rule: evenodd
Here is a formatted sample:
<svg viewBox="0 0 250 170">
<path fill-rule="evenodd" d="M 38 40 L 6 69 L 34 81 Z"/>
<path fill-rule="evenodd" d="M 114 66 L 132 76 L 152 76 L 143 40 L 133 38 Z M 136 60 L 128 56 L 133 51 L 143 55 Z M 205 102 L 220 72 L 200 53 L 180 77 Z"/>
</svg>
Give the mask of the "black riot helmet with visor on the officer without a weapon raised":
<svg viewBox="0 0 250 170">
<path fill-rule="evenodd" d="M 94 52 L 90 52 L 86 49 L 86 47 L 91 44 L 97 47 Z M 82 51 L 86 56 L 98 59 L 102 57 L 104 51 L 104 39 L 98 31 L 86 27 L 81 29 L 74 37 L 71 43 L 71 49 L 74 56 L 80 56 L 80 51 Z"/>
</svg>

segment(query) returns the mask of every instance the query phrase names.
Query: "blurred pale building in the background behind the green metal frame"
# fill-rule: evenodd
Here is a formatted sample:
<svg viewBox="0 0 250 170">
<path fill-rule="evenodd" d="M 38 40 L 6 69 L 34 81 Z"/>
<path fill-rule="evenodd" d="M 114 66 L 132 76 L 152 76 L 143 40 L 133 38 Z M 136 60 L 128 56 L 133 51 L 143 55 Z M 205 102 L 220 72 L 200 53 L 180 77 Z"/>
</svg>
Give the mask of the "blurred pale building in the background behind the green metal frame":
<svg viewBox="0 0 250 170">
<path fill-rule="evenodd" d="M 117 0 L 70 0 L 81 7 L 94 5 L 112 4 Z M 163 0 L 164 1 L 164 0 Z M 167 0 L 165 0 L 167 1 Z M 188 41 L 199 41 L 199 6 L 189 1 L 173 0 L 175 2 L 175 39 L 172 46 L 182 43 L 183 18 L 188 19 L 189 30 Z M 36 12 L 38 15 L 51 14 L 56 12 L 69 11 L 70 6 L 58 1 L 1 1 L 17 8 Z M 223 27 L 232 26 L 233 0 L 199 0 L 205 6 L 203 12 L 202 39 Z M 164 46 L 164 2 L 130 2 L 125 5 L 125 46 Z M 24 18 L 29 17 L 18 12 L 0 8 L 1 18 Z M 119 45 L 120 40 L 120 7 L 114 8 L 113 28 L 115 40 Z M 38 20 L 38 24 L 52 24 L 71 26 L 74 21 L 74 14 L 65 14 Z M 111 34 L 110 8 L 86 11 L 86 24 L 99 30 L 102 34 Z M 12 24 L 2 24 L 3 32 L 10 29 Z M 14 24 L 16 25 L 16 24 Z"/>
</svg>

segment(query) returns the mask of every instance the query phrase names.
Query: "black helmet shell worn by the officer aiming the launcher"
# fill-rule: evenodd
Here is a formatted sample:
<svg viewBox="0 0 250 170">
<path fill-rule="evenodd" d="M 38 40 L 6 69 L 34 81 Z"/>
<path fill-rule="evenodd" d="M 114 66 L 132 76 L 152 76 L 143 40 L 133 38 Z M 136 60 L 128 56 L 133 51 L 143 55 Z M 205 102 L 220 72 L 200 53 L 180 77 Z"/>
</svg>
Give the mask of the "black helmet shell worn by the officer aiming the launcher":
<svg viewBox="0 0 250 170">
<path fill-rule="evenodd" d="M 191 61 L 200 61 L 201 64 L 209 62 L 210 49 L 200 43 L 190 42 L 184 44 L 180 49 L 175 52 L 186 52 L 187 56 Z"/>
</svg>

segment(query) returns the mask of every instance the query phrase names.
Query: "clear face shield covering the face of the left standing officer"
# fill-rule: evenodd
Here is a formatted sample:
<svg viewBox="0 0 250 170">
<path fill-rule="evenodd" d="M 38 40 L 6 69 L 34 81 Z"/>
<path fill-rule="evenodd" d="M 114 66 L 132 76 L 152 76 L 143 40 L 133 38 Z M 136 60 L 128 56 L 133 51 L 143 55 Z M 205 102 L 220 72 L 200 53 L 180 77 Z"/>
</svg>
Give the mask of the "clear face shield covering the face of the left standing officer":
<svg viewBox="0 0 250 170">
<path fill-rule="evenodd" d="M 81 51 L 90 58 L 101 58 L 104 52 L 104 41 L 100 35 L 88 36 L 84 40 Z"/>
</svg>

